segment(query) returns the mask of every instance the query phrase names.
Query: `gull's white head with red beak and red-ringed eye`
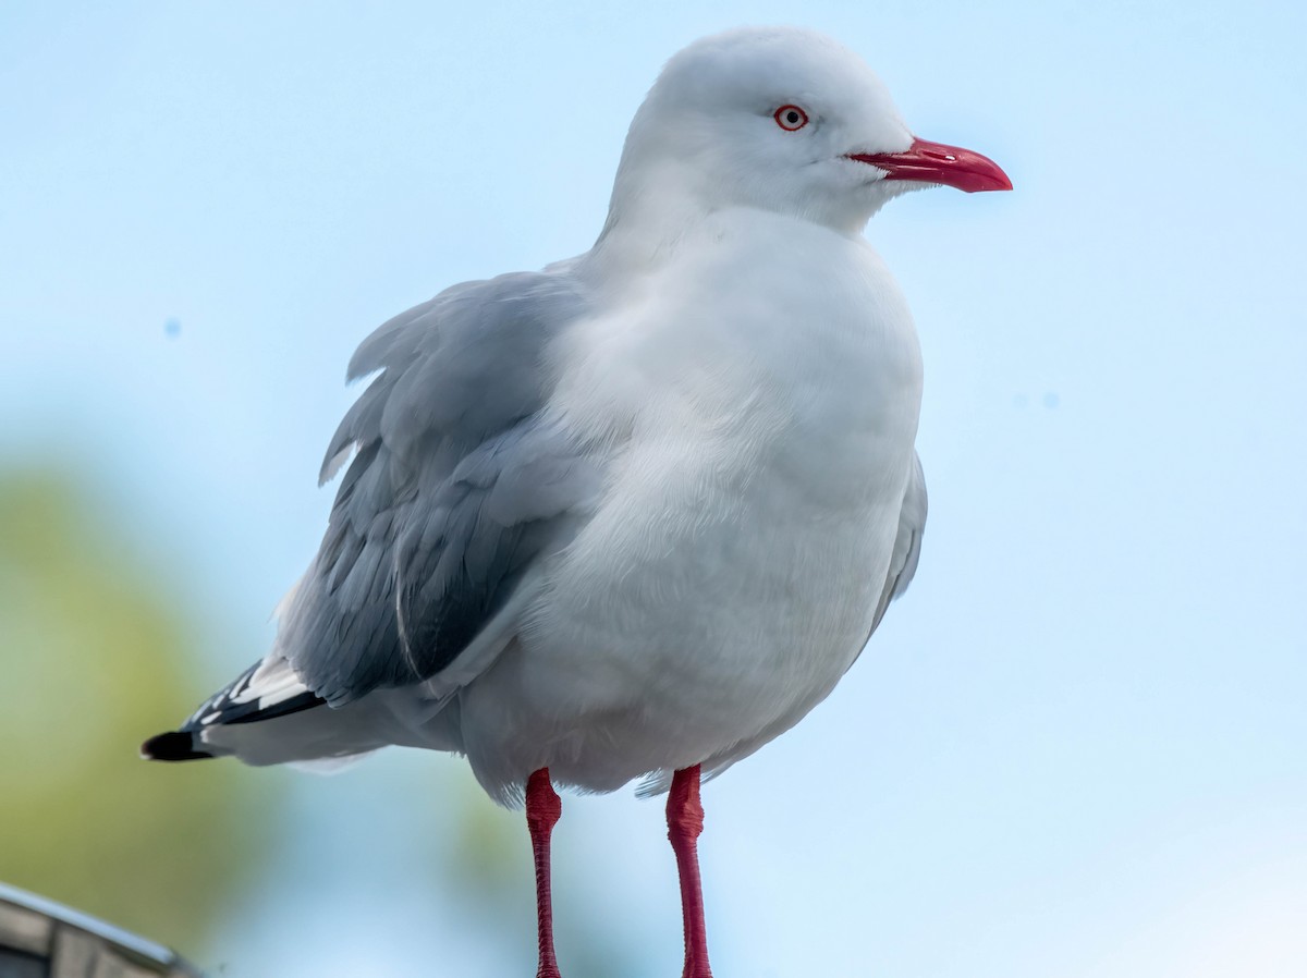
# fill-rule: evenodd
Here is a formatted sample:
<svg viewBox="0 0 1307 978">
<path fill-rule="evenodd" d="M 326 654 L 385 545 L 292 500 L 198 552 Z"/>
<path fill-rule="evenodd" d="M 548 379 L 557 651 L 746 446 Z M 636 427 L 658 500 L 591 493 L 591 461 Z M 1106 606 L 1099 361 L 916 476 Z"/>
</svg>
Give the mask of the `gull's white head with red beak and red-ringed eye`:
<svg viewBox="0 0 1307 978">
<path fill-rule="evenodd" d="M 890 197 L 932 184 L 1012 188 L 987 157 L 916 139 L 835 41 L 741 29 L 668 61 L 626 137 L 609 225 L 752 207 L 856 231 Z"/>
</svg>

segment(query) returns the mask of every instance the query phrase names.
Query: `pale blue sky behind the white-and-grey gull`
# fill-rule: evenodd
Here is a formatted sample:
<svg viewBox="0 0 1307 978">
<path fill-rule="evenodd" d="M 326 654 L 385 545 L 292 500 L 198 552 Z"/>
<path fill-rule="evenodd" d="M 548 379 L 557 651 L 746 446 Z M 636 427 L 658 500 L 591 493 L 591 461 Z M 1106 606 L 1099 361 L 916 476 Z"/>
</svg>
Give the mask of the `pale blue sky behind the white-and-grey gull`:
<svg viewBox="0 0 1307 978">
<path fill-rule="evenodd" d="M 1307 970 L 1300 5 L 268 7 L 0 13 L 0 458 L 93 473 L 209 625 L 207 681 L 316 544 L 363 335 L 587 248 L 667 56 L 804 24 L 1016 192 L 868 229 L 925 353 L 925 550 L 830 701 L 706 791 L 719 974 Z M 507 971 L 376 838 L 464 777 L 298 779 L 288 866 L 348 880 L 269 884 L 225 974 L 289 973 L 290 931 L 297 973 L 383 940 L 388 974 L 433 941 Z M 562 825 L 595 926 L 674 971 L 659 805 Z M 457 924 L 393 937 L 423 909 Z"/>
</svg>

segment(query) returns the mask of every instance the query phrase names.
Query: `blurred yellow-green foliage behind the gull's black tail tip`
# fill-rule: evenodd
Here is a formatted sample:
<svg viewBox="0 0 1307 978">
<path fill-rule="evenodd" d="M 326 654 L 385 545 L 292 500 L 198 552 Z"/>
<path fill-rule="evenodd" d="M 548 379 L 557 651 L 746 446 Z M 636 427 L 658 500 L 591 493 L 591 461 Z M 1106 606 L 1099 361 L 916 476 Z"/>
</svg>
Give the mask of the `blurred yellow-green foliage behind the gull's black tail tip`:
<svg viewBox="0 0 1307 978">
<path fill-rule="evenodd" d="M 90 498 L 0 473 L 0 879 L 184 951 L 260 863 L 276 784 L 137 757 L 207 692 L 196 632 Z"/>
</svg>

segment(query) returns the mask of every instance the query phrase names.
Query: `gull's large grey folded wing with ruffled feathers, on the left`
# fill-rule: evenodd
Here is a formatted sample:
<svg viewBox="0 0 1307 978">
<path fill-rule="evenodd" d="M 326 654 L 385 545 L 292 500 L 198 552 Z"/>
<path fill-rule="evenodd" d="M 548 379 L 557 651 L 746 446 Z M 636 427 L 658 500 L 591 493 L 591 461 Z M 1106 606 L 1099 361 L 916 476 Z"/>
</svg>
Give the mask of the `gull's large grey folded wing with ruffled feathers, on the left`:
<svg viewBox="0 0 1307 978">
<path fill-rule="evenodd" d="M 439 673 L 575 532 L 599 476 L 542 416 L 542 357 L 584 309 L 563 271 L 502 276 L 358 348 L 349 379 L 380 373 L 327 450 L 324 481 L 353 462 L 277 638 L 328 703 Z"/>
</svg>

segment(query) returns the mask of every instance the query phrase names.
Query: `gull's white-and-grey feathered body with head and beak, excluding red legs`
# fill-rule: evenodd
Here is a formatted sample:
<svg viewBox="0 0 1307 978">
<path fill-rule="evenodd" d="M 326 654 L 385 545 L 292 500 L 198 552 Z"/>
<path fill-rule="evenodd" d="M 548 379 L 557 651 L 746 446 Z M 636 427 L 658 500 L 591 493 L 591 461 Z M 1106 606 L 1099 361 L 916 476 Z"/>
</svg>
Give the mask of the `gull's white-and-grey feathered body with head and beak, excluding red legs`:
<svg viewBox="0 0 1307 978">
<path fill-rule="evenodd" d="M 819 35 L 678 54 L 591 251 L 363 344 L 352 373 L 382 373 L 328 451 L 357 455 L 276 647 L 148 753 L 457 750 L 514 800 L 542 767 L 596 791 L 715 773 L 795 724 L 925 520 L 916 333 L 861 229 L 999 178 L 915 140 Z"/>
</svg>

